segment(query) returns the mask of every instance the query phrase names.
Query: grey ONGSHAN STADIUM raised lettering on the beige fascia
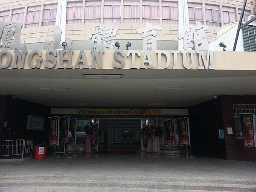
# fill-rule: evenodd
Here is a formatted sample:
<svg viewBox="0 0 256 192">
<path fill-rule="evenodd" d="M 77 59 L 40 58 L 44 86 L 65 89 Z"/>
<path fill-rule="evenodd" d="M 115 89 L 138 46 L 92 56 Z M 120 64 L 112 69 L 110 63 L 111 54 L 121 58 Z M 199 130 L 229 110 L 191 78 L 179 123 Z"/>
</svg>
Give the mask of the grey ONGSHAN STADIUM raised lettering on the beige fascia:
<svg viewBox="0 0 256 192">
<path fill-rule="evenodd" d="M 104 52 L 96 49 L 86 52 L 85 50 L 79 50 L 78 56 L 73 55 L 75 51 L 77 50 L 3 50 L 0 51 L 0 69 L 23 69 L 25 64 L 28 66 L 26 68 L 30 69 L 43 67 L 49 69 L 102 69 L 106 62 L 111 62 L 112 67 L 117 69 L 122 69 L 126 65 L 130 69 L 167 69 L 170 67 L 180 69 L 180 62 L 178 62 L 180 58 L 182 58 L 182 68 L 185 69 L 195 69 L 195 67 L 196 69 L 215 69 L 214 51 L 146 50 L 142 52 L 140 50 L 124 51 L 117 49 L 111 51 L 111 54 L 113 54 L 112 61 L 105 59 Z M 44 55 L 42 52 L 44 52 Z M 178 57 L 179 54 L 182 57 Z M 152 55 L 157 56 L 156 62 L 152 60 Z M 195 62 L 195 56 L 198 58 L 197 62 Z M 87 59 L 89 57 L 90 62 Z M 129 62 L 125 61 L 125 57 L 131 58 Z M 137 61 L 138 58 L 143 58 L 140 63 Z"/>
</svg>

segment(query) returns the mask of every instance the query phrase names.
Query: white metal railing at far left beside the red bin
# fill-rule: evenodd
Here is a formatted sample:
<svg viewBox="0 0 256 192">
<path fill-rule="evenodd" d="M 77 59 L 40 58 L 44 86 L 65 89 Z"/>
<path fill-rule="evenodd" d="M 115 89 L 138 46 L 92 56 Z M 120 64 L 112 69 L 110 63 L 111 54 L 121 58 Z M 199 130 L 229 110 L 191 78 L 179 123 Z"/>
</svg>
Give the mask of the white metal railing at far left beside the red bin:
<svg viewBox="0 0 256 192">
<path fill-rule="evenodd" d="M 11 157 L 33 152 L 33 140 L 2 140 L 0 141 L 0 157 Z"/>
</svg>

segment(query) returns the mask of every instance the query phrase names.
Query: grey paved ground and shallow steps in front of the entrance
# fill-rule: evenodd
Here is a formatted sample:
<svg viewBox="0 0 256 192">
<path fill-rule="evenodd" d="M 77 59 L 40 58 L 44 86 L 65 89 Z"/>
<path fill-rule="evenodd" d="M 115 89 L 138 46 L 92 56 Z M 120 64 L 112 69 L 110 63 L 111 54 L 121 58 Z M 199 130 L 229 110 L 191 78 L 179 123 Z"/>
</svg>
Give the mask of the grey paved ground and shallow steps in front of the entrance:
<svg viewBox="0 0 256 192">
<path fill-rule="evenodd" d="M 25 189 L 256 191 L 256 163 L 210 157 L 140 158 L 140 155 L 31 158 L 23 162 L 0 163 L 0 191 Z"/>
</svg>

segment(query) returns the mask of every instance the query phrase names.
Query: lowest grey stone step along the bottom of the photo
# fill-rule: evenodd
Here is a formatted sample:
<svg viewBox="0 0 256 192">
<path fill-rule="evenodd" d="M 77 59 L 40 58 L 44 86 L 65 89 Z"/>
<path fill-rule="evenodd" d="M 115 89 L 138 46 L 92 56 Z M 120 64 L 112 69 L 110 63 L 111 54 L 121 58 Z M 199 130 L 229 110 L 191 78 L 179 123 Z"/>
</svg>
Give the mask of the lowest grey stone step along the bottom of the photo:
<svg viewBox="0 0 256 192">
<path fill-rule="evenodd" d="M 3 178 L 3 177 L 2 177 Z M 204 190 L 204 191 L 256 191 L 256 185 L 234 183 L 195 183 L 167 181 L 131 181 L 131 180 L 71 180 L 71 179 L 31 179 L 31 180 L 0 180 L 0 187 L 107 187 L 132 189 L 172 189 L 172 190 Z"/>
</svg>

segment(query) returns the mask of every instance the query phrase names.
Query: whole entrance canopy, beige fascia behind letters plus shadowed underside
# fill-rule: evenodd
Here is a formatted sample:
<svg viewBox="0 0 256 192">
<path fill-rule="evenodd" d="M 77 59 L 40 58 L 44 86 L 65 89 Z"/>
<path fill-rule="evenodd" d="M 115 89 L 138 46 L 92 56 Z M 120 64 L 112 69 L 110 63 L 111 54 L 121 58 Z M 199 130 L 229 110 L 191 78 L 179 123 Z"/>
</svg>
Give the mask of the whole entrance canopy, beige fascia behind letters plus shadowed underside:
<svg viewBox="0 0 256 192">
<path fill-rule="evenodd" d="M 15 53 L 9 52 L 15 58 Z M 46 51 L 42 50 L 41 58 L 44 61 L 46 58 L 43 52 L 45 54 Z M 85 51 L 88 68 L 82 68 L 82 62 L 78 64 L 80 68 L 75 68 L 80 50 L 74 52 L 70 69 L 67 69 L 68 63 L 64 59 L 62 59 L 64 69 L 58 69 L 57 66 L 60 61 L 62 62 L 59 54 L 56 57 L 56 66 L 53 68 L 44 68 L 41 61 L 40 68 L 31 69 L 26 55 L 23 69 L 20 69 L 19 59 L 15 63 L 16 69 L 12 68 L 15 62 L 12 59 L 9 67 L 0 69 L 0 94 L 9 94 L 50 107 L 73 108 L 189 108 L 212 99 L 214 95 L 256 94 L 255 89 L 252 88 L 256 87 L 255 52 L 215 52 L 212 61 L 207 57 L 207 52 L 204 52 L 207 61 L 202 57 L 201 64 L 199 54 L 194 52 L 192 53 L 194 65 L 190 70 L 186 69 L 187 64 L 191 64 L 191 53 L 187 51 L 185 51 L 186 62 L 183 54 L 177 53 L 179 69 L 175 69 L 175 56 L 172 51 L 169 51 L 170 64 L 166 68 L 163 66 L 168 63 L 168 56 L 162 54 L 160 63 L 155 51 L 149 51 L 151 59 L 143 58 L 146 54 L 143 51 L 140 51 L 140 57 L 135 55 L 134 66 L 137 68 L 131 67 L 131 56 L 124 56 L 124 60 L 116 60 L 113 56 L 115 51 L 106 51 L 103 54 L 102 68 L 99 68 L 98 60 L 94 58 L 96 68 L 92 68 L 90 65 L 92 55 L 88 55 L 91 52 Z M 118 56 L 121 57 L 120 53 Z M 64 57 L 68 57 L 67 52 L 64 53 Z M 38 56 L 34 54 L 33 64 L 36 64 L 36 58 Z M 114 61 L 119 67 L 123 61 L 124 66 L 113 67 Z M 2 65 L 5 62 L 6 56 L 3 56 Z M 47 62 L 50 64 L 49 60 Z M 154 66 L 153 69 L 149 69 L 150 64 Z M 208 68 L 214 64 L 212 66 L 215 69 L 207 69 L 206 64 Z M 157 68 L 159 66 L 163 69 Z M 204 69 L 201 70 L 200 66 Z M 91 79 L 90 75 L 97 74 L 102 76 Z M 84 75 L 87 76 L 84 78 Z M 118 76 L 113 78 L 106 75 Z"/>
</svg>

